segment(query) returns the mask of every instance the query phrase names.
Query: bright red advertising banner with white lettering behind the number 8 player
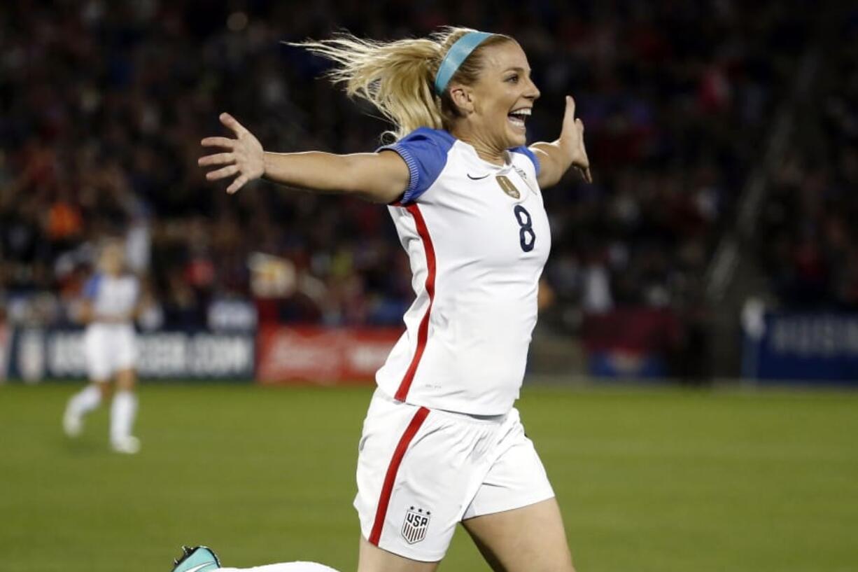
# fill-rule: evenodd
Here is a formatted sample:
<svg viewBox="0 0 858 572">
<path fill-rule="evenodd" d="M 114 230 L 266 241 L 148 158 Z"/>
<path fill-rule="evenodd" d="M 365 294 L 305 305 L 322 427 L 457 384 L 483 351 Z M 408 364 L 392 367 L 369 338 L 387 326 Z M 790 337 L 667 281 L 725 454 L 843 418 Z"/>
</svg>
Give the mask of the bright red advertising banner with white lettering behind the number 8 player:
<svg viewBox="0 0 858 572">
<path fill-rule="evenodd" d="M 265 385 L 366 384 L 400 335 L 398 328 L 263 327 L 257 338 L 257 380 Z"/>
</svg>

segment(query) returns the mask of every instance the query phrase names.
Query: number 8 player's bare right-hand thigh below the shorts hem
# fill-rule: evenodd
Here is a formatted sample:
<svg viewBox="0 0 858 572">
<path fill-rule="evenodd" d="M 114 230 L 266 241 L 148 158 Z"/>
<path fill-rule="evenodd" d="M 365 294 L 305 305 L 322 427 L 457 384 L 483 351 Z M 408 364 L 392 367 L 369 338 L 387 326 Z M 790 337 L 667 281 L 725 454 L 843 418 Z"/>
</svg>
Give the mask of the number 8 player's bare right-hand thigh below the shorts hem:
<svg viewBox="0 0 858 572">
<path fill-rule="evenodd" d="M 575 572 L 554 498 L 462 525 L 495 572 Z"/>
</svg>

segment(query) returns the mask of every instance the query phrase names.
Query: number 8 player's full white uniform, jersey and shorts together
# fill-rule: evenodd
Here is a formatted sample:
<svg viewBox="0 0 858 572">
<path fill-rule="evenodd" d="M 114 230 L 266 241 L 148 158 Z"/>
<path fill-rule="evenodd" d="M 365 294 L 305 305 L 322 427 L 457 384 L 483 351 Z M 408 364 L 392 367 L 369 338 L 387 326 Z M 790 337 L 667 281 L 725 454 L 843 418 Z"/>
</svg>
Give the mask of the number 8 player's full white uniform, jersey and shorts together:
<svg viewBox="0 0 858 572">
<path fill-rule="evenodd" d="M 382 149 L 408 165 L 389 209 L 416 299 L 376 375 L 355 507 L 372 544 L 434 562 L 459 521 L 553 496 L 513 407 L 551 235 L 529 149 L 492 165 L 428 128 Z"/>
</svg>

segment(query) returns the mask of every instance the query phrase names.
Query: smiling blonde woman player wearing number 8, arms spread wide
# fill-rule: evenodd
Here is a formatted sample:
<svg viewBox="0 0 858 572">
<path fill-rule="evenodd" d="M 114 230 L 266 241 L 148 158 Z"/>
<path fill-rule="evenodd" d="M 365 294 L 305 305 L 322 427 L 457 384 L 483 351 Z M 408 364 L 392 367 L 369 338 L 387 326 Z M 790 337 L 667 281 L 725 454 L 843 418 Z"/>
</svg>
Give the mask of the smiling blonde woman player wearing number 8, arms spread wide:
<svg viewBox="0 0 858 572">
<path fill-rule="evenodd" d="M 360 572 L 437 568 L 456 524 L 509 572 L 570 572 L 551 485 L 513 407 L 551 237 L 541 189 L 569 167 L 590 180 L 583 124 L 566 98 L 560 137 L 525 142 L 540 92 L 509 36 L 446 28 L 390 43 L 305 44 L 347 93 L 395 126 L 375 153 L 265 152 L 234 138 L 199 164 L 227 192 L 264 177 L 388 204 L 414 272 L 407 331 L 377 374 L 360 439 Z"/>
</svg>

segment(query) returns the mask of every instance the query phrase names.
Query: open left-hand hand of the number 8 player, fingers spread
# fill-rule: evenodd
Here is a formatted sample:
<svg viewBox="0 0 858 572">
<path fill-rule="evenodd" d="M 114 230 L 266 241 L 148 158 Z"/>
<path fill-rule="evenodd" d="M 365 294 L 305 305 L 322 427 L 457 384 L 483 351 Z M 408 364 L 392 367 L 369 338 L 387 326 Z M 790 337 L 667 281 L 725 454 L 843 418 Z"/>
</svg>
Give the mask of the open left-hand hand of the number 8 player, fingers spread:
<svg viewBox="0 0 858 572">
<path fill-rule="evenodd" d="M 235 139 L 227 137 L 206 137 L 200 142 L 203 147 L 220 147 L 228 149 L 226 153 L 215 153 L 200 157 L 196 163 L 200 167 L 226 165 L 206 173 L 208 180 L 221 180 L 238 175 L 229 186 L 227 192 L 233 194 L 242 186 L 254 179 L 259 179 L 265 173 L 265 152 L 259 140 L 253 133 L 247 131 L 229 113 L 221 113 L 221 123 L 235 133 Z"/>
</svg>

